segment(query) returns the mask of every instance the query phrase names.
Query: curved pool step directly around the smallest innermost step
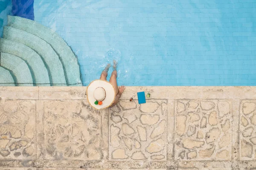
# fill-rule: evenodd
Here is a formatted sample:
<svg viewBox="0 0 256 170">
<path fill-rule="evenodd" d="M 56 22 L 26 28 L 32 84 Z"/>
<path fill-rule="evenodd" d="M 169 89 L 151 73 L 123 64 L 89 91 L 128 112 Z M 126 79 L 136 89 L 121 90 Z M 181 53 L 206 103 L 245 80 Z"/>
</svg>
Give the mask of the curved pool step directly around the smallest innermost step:
<svg viewBox="0 0 256 170">
<path fill-rule="evenodd" d="M 23 59 L 12 54 L 0 53 L 0 66 L 12 71 L 17 86 L 33 86 L 31 72 Z"/>
</svg>

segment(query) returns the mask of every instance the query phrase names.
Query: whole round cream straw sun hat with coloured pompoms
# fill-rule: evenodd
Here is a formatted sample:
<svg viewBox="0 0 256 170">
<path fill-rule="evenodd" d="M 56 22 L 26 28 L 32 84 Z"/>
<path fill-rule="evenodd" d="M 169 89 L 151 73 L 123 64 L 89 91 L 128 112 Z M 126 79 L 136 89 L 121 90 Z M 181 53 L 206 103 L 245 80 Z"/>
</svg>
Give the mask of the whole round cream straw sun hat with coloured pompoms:
<svg viewBox="0 0 256 170">
<path fill-rule="evenodd" d="M 87 87 L 87 100 L 93 108 L 108 108 L 113 104 L 115 97 L 113 85 L 105 80 L 94 80 Z"/>
</svg>

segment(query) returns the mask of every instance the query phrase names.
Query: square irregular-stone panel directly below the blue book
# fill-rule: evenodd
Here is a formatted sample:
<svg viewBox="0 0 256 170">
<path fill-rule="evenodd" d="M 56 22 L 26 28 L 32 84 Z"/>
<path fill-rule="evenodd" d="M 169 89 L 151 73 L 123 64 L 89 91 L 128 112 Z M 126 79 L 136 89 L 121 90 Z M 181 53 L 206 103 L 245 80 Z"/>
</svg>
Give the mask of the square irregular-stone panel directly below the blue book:
<svg viewBox="0 0 256 170">
<path fill-rule="evenodd" d="M 137 100 L 121 100 L 115 107 L 120 108 L 119 113 L 109 109 L 109 139 L 116 141 L 109 143 L 109 159 L 166 160 L 167 100 L 147 99 L 141 105 Z M 120 132 L 114 132 L 113 126 Z"/>
</svg>

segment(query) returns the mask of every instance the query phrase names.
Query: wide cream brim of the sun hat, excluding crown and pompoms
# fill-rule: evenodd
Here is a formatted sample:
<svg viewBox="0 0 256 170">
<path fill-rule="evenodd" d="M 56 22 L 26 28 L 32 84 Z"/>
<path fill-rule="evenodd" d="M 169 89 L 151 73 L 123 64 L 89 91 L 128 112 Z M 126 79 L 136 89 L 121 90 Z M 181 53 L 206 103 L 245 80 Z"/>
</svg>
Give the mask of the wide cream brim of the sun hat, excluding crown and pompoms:
<svg viewBox="0 0 256 170">
<path fill-rule="evenodd" d="M 106 98 L 102 101 L 102 105 L 95 105 L 96 99 L 93 92 L 96 88 L 102 87 L 106 91 Z M 87 100 L 93 108 L 105 109 L 113 104 L 115 101 L 116 93 L 113 85 L 105 80 L 94 80 L 87 87 Z"/>
</svg>

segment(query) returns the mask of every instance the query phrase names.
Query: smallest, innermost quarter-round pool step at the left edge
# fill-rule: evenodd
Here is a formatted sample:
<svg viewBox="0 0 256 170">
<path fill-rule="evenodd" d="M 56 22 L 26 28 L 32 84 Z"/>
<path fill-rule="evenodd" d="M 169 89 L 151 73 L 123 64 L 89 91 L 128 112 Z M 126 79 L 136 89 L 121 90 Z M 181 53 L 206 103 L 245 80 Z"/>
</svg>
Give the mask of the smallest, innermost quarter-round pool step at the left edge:
<svg viewBox="0 0 256 170">
<path fill-rule="evenodd" d="M 0 66 L 0 86 L 15 86 L 15 82 L 11 72 L 1 66 Z"/>
</svg>

